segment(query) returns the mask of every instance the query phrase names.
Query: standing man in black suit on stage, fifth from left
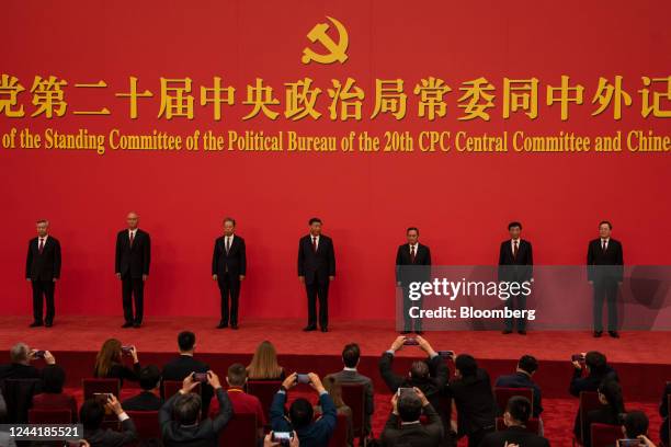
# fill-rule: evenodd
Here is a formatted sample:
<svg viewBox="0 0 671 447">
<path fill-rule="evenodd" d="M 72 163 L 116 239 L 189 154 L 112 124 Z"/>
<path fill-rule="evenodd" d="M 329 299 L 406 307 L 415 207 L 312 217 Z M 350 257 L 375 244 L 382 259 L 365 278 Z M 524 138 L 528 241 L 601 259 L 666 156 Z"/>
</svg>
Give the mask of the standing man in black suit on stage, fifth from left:
<svg viewBox="0 0 671 447">
<path fill-rule="evenodd" d="M 409 334 L 414 322 L 414 332 L 422 333 L 422 320 L 410 317 L 411 307 L 422 307 L 421 298 L 417 301 L 410 299 L 409 287 L 413 282 L 425 282 L 431 278 L 431 250 L 419 243 L 419 229 L 410 227 L 406 230 L 408 243 L 400 245 L 396 252 L 396 285 L 402 288 L 403 294 L 403 331 Z"/>
</svg>

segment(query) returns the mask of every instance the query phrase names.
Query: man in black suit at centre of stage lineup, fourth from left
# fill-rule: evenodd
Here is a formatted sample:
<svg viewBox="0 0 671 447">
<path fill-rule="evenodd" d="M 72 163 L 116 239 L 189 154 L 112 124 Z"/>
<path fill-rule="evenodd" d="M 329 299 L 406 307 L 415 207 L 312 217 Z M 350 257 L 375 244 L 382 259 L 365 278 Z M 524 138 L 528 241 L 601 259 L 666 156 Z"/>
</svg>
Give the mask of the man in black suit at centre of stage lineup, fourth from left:
<svg viewBox="0 0 671 447">
<path fill-rule="evenodd" d="M 310 233 L 298 241 L 298 279 L 305 284 L 308 298 L 308 324 L 304 331 L 317 330 L 317 299 L 321 332 L 329 328 L 329 284 L 336 279 L 333 241 L 321 234 L 321 220 L 312 217 Z"/>
</svg>

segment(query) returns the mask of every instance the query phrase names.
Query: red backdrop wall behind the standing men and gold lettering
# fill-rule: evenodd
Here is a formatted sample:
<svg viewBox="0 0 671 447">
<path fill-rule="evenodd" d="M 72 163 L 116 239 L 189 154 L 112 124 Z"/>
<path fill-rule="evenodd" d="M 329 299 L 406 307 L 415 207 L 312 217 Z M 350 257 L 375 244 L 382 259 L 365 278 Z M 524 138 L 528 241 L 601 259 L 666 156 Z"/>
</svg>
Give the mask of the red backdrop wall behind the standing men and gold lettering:
<svg viewBox="0 0 671 447">
<path fill-rule="evenodd" d="M 5 1 L 0 28 L 0 71 L 26 88 L 35 74 L 68 80 L 71 108 L 109 106 L 107 117 L 0 115 L 0 133 L 12 127 L 41 131 L 106 134 L 150 133 L 153 128 L 190 135 L 194 129 L 297 130 L 344 136 L 350 130 L 467 130 L 534 135 L 559 130 L 605 135 L 652 129 L 669 135 L 670 118 L 640 114 L 641 76 L 671 74 L 668 1 L 562 2 L 500 1 L 424 3 L 390 0 L 284 2 L 254 1 Z M 350 36 L 349 60 L 303 65 L 306 34 L 325 15 L 340 20 Z M 315 45 L 315 48 L 319 48 Z M 558 85 L 561 74 L 585 87 L 585 104 L 570 106 L 562 122 L 559 106 L 544 105 L 539 117 L 521 113 L 501 118 L 500 99 L 491 121 L 462 122 L 455 106 L 459 83 L 486 77 L 501 90 L 509 78 L 536 77 Z M 591 116 L 600 77 L 624 77 L 633 98 L 623 119 L 609 110 Z M 140 90 L 139 118 L 129 119 L 127 102 L 114 92 Z M 237 88 L 237 104 L 224 119 L 196 105 L 193 121 L 157 118 L 159 78 L 191 77 L 212 85 L 214 76 Z M 406 80 L 406 93 L 421 78 L 450 84 L 447 116 L 429 123 L 409 105 L 408 117 L 388 114 L 361 122 L 293 123 L 258 117 L 241 121 L 244 87 L 257 77 L 275 88 L 284 104 L 285 82 L 309 76 L 326 95 L 331 79 L 356 79 L 373 96 L 376 78 Z M 106 91 L 77 91 L 76 82 L 104 79 Z M 197 89 L 197 87 L 196 87 Z M 197 99 L 196 99 L 197 102 Z M 29 114 L 29 96 L 21 96 Z M 410 104 L 410 100 L 409 100 Z M 671 110 L 669 101 L 660 104 Z M 282 111 L 281 107 L 275 107 Z M 537 264 L 580 264 L 599 220 L 614 224 L 628 264 L 671 262 L 667 230 L 670 154 L 596 153 L 465 154 L 420 153 L 158 153 L 0 150 L 2 215 L 0 295 L 5 314 L 29 313 L 30 286 L 23 276 L 27 239 L 34 221 L 47 217 L 62 245 L 58 312 L 121 314 L 114 277 L 115 233 L 128 210 L 152 238 L 152 264 L 146 293 L 149 316 L 217 313 L 218 290 L 209 277 L 212 244 L 224 216 L 238 220 L 247 241 L 248 280 L 241 312 L 249 317 L 302 317 L 305 294 L 296 278 L 297 239 L 307 220 L 319 216 L 336 244 L 338 277 L 331 288 L 336 318 L 394 317 L 394 259 L 405 228 L 421 229 L 434 264 L 491 264 L 507 237 L 509 220 L 521 220 L 534 243 Z"/>
</svg>

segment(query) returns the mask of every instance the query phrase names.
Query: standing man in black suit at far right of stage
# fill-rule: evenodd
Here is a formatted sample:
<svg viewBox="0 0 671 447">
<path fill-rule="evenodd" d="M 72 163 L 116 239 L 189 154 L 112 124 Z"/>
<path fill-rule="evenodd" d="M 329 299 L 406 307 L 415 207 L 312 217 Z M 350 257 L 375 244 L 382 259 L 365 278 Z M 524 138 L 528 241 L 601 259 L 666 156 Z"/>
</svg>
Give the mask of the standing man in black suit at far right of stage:
<svg viewBox="0 0 671 447">
<path fill-rule="evenodd" d="M 603 301 L 609 309 L 609 334 L 617 339 L 617 287 L 622 284 L 624 261 L 622 243 L 611 238 L 613 226 L 607 220 L 599 224 L 599 239 L 588 247 L 588 280 L 594 287 L 594 336 L 603 333 Z"/>
</svg>

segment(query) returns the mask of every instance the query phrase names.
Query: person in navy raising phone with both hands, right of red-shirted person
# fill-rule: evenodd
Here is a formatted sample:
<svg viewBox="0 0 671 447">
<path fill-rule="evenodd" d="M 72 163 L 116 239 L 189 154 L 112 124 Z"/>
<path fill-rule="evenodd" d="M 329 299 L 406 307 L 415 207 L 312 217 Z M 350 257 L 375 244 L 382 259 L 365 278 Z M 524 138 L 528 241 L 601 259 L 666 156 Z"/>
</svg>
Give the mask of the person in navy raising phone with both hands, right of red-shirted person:
<svg viewBox="0 0 671 447">
<path fill-rule="evenodd" d="M 321 405 L 321 417 L 312 421 L 312 405 L 307 399 L 298 398 L 289 406 L 288 417 L 284 415 L 286 393 L 297 383 L 296 373 L 288 376 L 282 382 L 280 391 L 273 398 L 270 410 L 271 424 L 274 432 L 295 431 L 300 439 L 300 447 L 323 447 L 328 446 L 329 439 L 333 434 L 337 422 L 336 404 L 321 385 L 319 376 L 314 373 L 308 374 L 309 385 L 319 393 L 319 405 Z"/>
</svg>

